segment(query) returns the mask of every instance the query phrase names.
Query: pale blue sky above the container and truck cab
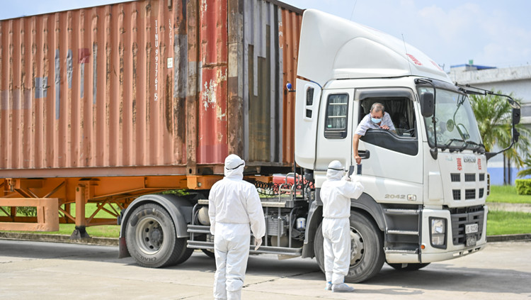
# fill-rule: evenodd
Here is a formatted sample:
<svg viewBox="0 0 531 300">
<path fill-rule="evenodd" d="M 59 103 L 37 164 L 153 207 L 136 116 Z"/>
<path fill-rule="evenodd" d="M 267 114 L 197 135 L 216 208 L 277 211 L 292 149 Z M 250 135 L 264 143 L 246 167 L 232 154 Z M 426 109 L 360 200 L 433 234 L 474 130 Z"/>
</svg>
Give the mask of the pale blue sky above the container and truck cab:
<svg viewBox="0 0 531 300">
<path fill-rule="evenodd" d="M 174 0 L 175 1 L 175 0 Z M 0 19 L 115 3 L 110 0 L 1 1 Z M 445 70 L 531 64 L 528 0 L 284 0 L 319 9 L 404 39 Z"/>
</svg>

